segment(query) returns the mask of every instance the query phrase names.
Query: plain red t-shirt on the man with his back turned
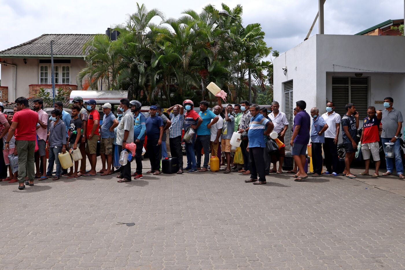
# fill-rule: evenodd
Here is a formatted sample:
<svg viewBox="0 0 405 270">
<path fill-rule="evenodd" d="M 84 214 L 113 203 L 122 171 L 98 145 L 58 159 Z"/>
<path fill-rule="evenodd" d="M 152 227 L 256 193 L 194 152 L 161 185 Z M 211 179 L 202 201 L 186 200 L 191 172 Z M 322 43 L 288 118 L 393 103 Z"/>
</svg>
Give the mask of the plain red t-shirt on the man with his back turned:
<svg viewBox="0 0 405 270">
<path fill-rule="evenodd" d="M 30 109 L 17 111 L 13 116 L 13 122 L 17 122 L 15 129 L 15 139 L 19 141 L 36 140 L 36 124 L 38 123 L 38 114 Z"/>
</svg>

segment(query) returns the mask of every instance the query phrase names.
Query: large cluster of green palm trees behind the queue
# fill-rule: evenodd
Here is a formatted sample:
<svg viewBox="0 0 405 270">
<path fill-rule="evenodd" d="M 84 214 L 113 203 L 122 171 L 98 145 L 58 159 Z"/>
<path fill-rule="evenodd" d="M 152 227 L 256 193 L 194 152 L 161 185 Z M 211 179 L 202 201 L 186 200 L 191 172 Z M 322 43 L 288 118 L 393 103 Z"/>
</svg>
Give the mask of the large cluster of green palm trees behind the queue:
<svg viewBox="0 0 405 270">
<path fill-rule="evenodd" d="M 77 83 L 83 89 L 101 84 L 103 90 L 129 90 L 131 99 L 169 106 L 185 98 L 215 100 L 206 89 L 213 81 L 230 102 L 238 102 L 249 95 L 250 70 L 256 96 L 272 84 L 273 64 L 264 61 L 272 48 L 264 42 L 260 24 L 242 26 L 242 6 L 222 4 L 221 9 L 232 17 L 219 15 L 209 4 L 200 13 L 185 10 L 178 19 L 166 18 L 137 3 L 126 24 L 114 27 L 120 33 L 116 41 L 99 34 L 84 45 L 87 66 Z M 158 25 L 151 22 L 156 17 Z"/>
</svg>

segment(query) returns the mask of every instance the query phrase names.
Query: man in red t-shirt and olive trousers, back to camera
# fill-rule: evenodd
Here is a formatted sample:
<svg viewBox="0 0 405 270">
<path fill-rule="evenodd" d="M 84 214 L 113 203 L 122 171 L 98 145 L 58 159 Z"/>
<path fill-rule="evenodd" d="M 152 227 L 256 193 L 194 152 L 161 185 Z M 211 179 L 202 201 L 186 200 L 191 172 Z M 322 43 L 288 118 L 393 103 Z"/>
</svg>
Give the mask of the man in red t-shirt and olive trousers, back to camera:
<svg viewBox="0 0 405 270">
<path fill-rule="evenodd" d="M 18 189 L 24 189 L 25 184 L 34 186 L 34 152 L 38 114 L 29 109 L 28 99 L 23 96 L 16 99 L 15 103 L 17 103 L 17 112 L 13 116 L 5 147 L 6 150 L 10 150 L 9 143 L 15 132 L 14 154 L 18 154 Z M 24 182 L 26 176 L 28 181 Z"/>
</svg>

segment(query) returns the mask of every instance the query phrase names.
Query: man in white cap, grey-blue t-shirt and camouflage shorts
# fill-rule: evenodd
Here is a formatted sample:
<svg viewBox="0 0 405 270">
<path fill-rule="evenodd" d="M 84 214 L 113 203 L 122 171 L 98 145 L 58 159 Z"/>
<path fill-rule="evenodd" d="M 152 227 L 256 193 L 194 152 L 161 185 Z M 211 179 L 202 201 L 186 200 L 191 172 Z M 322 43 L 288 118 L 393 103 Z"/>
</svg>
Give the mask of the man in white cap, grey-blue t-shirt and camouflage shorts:
<svg viewBox="0 0 405 270">
<path fill-rule="evenodd" d="M 101 146 L 100 146 L 100 156 L 102 169 L 98 171 L 98 174 L 110 175 L 111 163 L 113 162 L 113 140 L 114 140 L 114 129 L 118 126 L 118 120 L 115 115 L 111 112 L 111 104 L 105 103 L 102 105 L 102 112 L 104 116 L 102 118 L 102 125 L 100 129 Z M 105 161 L 107 159 L 107 170 L 105 169 Z"/>
</svg>

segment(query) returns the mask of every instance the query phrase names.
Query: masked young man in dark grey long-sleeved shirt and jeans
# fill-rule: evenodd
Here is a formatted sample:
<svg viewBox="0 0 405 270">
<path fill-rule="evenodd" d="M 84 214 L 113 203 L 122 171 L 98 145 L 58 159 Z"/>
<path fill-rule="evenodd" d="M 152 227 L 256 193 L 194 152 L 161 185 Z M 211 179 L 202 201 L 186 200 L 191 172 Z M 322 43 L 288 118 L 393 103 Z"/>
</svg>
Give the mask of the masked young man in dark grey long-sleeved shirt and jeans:
<svg viewBox="0 0 405 270">
<path fill-rule="evenodd" d="M 47 176 L 52 176 L 53 164 L 56 163 L 56 174 L 52 180 L 58 180 L 62 172 L 62 166 L 59 161 L 59 153 L 66 152 L 66 127 L 62 121 L 62 111 L 54 109 L 51 112 L 51 128 L 49 129 L 49 139 L 47 150 L 49 152 Z"/>
</svg>

